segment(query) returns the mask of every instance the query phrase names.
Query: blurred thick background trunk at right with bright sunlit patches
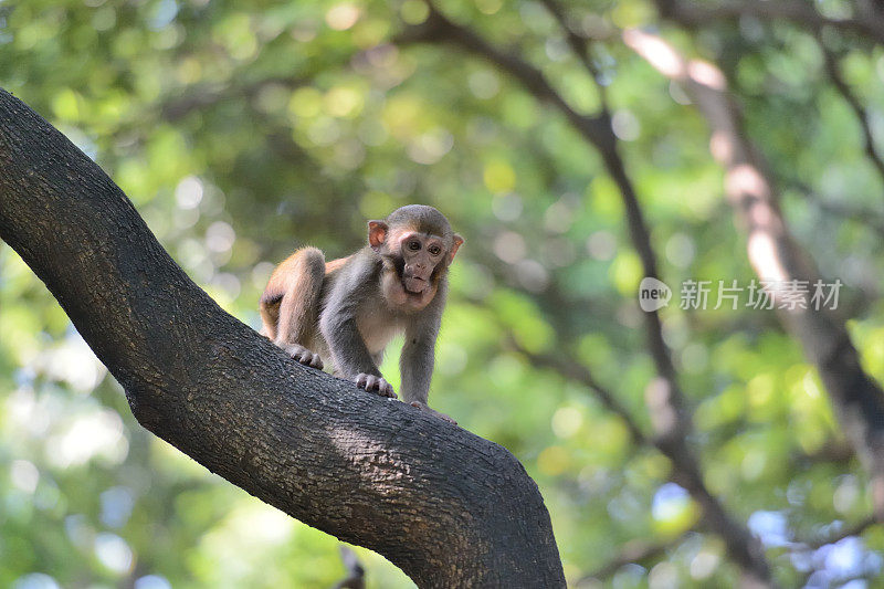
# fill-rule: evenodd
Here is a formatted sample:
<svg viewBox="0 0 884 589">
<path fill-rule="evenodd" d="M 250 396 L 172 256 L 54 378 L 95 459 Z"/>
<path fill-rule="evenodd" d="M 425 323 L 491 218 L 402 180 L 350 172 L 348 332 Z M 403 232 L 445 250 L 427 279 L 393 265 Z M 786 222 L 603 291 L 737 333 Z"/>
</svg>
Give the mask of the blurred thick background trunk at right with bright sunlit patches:
<svg viewBox="0 0 884 589">
<path fill-rule="evenodd" d="M 720 70 L 682 57 L 652 34 L 632 30 L 623 38 L 663 75 L 682 84 L 706 117 L 712 154 L 726 169 L 725 191 L 748 233 L 749 262 L 761 280 L 780 286 L 770 291 L 774 298 L 791 281 L 813 285 L 819 272 L 789 232 L 774 182 L 744 130 Z M 863 370 L 844 320 L 825 305 L 814 308 L 811 292 L 801 304 L 783 308 L 782 316 L 817 366 L 844 434 L 871 474 L 875 513 L 884 517 L 884 391 Z"/>
</svg>

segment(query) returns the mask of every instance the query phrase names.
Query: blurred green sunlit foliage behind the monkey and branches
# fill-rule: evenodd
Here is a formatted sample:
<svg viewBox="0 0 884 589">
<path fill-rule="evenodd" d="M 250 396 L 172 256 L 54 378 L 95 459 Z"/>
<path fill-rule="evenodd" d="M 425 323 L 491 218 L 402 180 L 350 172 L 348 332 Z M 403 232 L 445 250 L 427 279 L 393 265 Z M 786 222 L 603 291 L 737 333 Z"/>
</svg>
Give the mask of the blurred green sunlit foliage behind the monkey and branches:
<svg viewBox="0 0 884 589">
<path fill-rule="evenodd" d="M 588 32 L 656 18 L 643 0 L 564 6 Z M 600 107 L 540 3 L 441 8 L 517 45 L 579 112 Z M 666 459 L 634 446 L 585 385 L 516 351 L 585 364 L 650 432 L 641 265 L 617 188 L 567 122 L 504 73 L 450 48 L 390 44 L 425 18 L 417 0 L 6 0 L 0 85 L 95 159 L 193 280 L 254 327 L 273 264 L 294 248 L 344 255 L 368 218 L 409 202 L 440 208 L 466 245 L 432 402 L 526 465 L 569 581 L 648 541 L 663 549 L 606 582 L 732 586 L 722 540 L 669 482 Z M 884 53 L 829 33 L 884 130 Z M 884 378 L 884 186 L 817 41 L 757 19 L 666 34 L 730 76 L 797 235 L 844 282 L 855 344 Z M 748 284 L 702 118 L 615 38 L 593 61 L 664 281 Z M 840 214 L 852 210 L 872 212 Z M 776 315 L 670 305 L 662 317 L 706 482 L 764 539 L 778 579 L 877 575 L 884 530 L 801 544 L 861 520 L 870 501 L 856 461 L 830 452 L 844 441 L 825 392 Z M 397 357 L 382 367 L 394 385 Z M 369 587 L 410 586 L 383 558 L 358 554 Z M 330 587 L 343 576 L 335 538 L 143 430 L 52 296 L 0 244 L 0 587 Z"/>
</svg>

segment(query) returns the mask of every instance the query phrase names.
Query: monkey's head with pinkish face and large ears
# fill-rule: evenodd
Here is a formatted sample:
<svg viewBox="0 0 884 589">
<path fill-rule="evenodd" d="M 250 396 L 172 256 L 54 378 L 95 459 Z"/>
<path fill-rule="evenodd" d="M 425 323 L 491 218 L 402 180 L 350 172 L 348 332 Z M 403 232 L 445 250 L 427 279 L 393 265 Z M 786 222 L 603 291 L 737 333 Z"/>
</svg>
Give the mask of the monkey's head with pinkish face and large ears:
<svg viewBox="0 0 884 589">
<path fill-rule="evenodd" d="M 404 291 L 422 298 L 424 294 L 435 294 L 463 238 L 434 208 L 409 204 L 383 221 L 369 221 L 368 243 L 392 262 Z"/>
</svg>

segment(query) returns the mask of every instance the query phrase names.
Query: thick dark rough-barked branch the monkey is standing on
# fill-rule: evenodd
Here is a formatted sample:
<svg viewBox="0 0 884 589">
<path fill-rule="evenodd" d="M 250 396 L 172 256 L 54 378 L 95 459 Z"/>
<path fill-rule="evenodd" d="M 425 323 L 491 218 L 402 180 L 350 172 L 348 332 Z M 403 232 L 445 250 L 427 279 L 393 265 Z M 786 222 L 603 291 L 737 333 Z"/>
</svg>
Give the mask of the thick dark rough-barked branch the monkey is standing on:
<svg viewBox="0 0 884 589">
<path fill-rule="evenodd" d="M 537 485 L 505 449 L 305 368 L 224 313 L 126 196 L 0 91 L 0 236 L 148 430 L 425 587 L 562 587 Z"/>
</svg>

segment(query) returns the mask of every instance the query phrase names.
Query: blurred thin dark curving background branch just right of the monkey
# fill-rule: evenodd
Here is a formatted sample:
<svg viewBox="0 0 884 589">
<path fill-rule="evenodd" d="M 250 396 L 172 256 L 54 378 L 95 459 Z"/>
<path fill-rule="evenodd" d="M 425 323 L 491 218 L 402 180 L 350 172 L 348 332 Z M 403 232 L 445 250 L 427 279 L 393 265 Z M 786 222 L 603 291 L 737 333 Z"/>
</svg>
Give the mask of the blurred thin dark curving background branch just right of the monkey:
<svg viewBox="0 0 884 589">
<path fill-rule="evenodd" d="M 599 150 L 606 170 L 620 190 L 630 238 L 641 259 L 644 275 L 659 277 L 650 231 L 625 165 L 618 151 L 618 141 L 608 112 L 602 111 L 597 116 L 577 113 L 556 92 L 540 70 L 518 55 L 504 53 L 494 48 L 470 28 L 452 22 L 432 3 L 428 6 L 430 9 L 428 19 L 420 25 L 407 28 L 397 42 L 449 43 L 459 46 L 509 73 L 538 101 L 550 104 L 565 115 L 571 126 Z M 692 418 L 676 378 L 672 356 L 663 339 L 660 316 L 656 312 L 645 313 L 644 319 L 648 346 L 657 371 L 657 377 L 645 391 L 654 428 L 653 443 L 672 462 L 672 480 L 691 493 L 694 501 L 699 504 L 705 522 L 711 529 L 725 538 L 730 558 L 740 566 L 744 575 L 750 582 L 767 585 L 771 579 L 770 566 L 764 556 L 760 543 L 708 491 L 703 481 L 699 461 L 687 443 L 688 435 L 693 431 Z"/>
</svg>

